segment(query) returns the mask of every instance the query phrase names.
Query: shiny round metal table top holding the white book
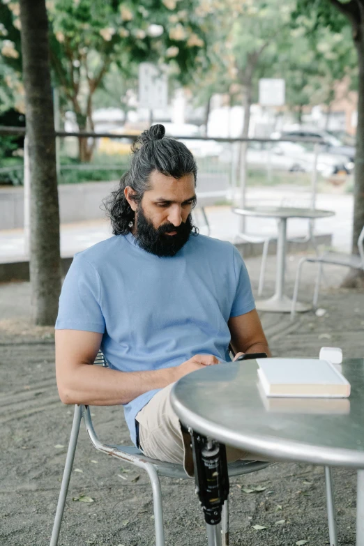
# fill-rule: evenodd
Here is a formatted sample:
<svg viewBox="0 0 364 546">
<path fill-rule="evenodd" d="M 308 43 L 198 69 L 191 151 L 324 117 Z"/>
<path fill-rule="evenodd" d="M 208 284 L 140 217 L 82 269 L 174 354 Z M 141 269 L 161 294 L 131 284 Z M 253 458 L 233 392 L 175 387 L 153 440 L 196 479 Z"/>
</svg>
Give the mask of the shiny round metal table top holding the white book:
<svg viewBox="0 0 364 546">
<path fill-rule="evenodd" d="M 171 393 L 181 423 L 268 460 L 364 469 L 364 358 L 342 363 L 349 398 L 268 398 L 257 368 L 222 363 L 182 377 Z"/>
</svg>

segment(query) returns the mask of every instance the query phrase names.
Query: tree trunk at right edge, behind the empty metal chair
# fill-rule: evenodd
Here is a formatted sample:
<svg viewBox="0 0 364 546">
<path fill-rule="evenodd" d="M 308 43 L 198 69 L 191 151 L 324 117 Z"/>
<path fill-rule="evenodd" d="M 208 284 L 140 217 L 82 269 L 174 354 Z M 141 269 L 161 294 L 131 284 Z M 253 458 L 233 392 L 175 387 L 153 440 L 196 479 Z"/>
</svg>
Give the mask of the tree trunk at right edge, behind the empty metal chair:
<svg viewBox="0 0 364 546">
<path fill-rule="evenodd" d="M 354 168 L 354 221 L 351 252 L 358 254 L 358 236 L 364 226 L 364 36 L 363 27 L 354 41 L 358 52 L 358 126 L 356 127 L 356 157 Z M 364 273 L 358 269 L 350 271 L 342 283 L 345 287 L 364 285 Z"/>
</svg>

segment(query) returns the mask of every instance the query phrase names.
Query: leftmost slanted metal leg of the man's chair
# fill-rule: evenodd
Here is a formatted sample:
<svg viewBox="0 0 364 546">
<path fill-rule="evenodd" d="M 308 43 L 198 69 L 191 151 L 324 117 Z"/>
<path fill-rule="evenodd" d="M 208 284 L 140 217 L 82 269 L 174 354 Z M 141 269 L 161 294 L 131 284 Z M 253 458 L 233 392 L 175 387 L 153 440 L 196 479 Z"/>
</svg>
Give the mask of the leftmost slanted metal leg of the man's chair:
<svg viewBox="0 0 364 546">
<path fill-rule="evenodd" d="M 66 464 L 63 470 L 63 478 L 61 483 L 61 491 L 59 493 L 59 499 L 56 509 L 56 516 L 54 517 L 54 524 L 52 529 L 52 537 L 50 540 L 50 546 L 56 546 L 59 538 L 59 531 L 61 529 L 63 510 L 66 504 L 66 496 L 68 492 L 68 484 L 70 483 L 70 474 L 73 466 L 73 459 L 75 457 L 75 450 L 77 446 L 77 439 L 79 433 L 79 424 L 81 423 L 82 406 L 75 406 L 75 414 L 73 415 L 73 425 L 70 434 L 70 443 L 68 444 L 68 451 L 66 457 Z"/>
</svg>

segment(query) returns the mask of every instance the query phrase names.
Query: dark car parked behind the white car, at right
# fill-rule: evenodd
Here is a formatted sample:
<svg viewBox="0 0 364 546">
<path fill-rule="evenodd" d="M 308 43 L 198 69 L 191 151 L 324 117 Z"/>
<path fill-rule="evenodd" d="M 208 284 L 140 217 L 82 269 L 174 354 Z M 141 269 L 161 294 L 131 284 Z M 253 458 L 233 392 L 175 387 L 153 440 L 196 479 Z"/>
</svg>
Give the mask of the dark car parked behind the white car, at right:
<svg viewBox="0 0 364 546">
<path fill-rule="evenodd" d="M 316 128 L 297 128 L 295 130 L 283 130 L 283 131 L 275 131 L 271 134 L 272 139 L 281 139 L 281 138 L 289 138 L 289 139 L 300 139 L 300 138 L 307 138 L 307 139 L 316 139 L 319 138 L 323 142 L 323 144 L 320 144 L 320 151 L 323 153 L 330 153 L 337 156 L 345 156 L 347 158 L 347 162 L 354 163 L 355 159 L 355 147 L 354 146 L 346 146 L 345 144 L 342 144 L 342 142 L 336 138 L 334 135 L 331 135 L 330 132 L 323 130 L 323 129 L 316 129 Z"/>
</svg>

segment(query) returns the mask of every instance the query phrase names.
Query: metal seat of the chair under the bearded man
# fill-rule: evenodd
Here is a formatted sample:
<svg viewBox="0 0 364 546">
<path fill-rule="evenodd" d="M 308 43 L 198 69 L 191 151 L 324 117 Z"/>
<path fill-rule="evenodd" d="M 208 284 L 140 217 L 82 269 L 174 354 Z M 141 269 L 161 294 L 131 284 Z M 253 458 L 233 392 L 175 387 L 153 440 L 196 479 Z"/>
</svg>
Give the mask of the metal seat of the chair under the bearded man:
<svg viewBox="0 0 364 546">
<path fill-rule="evenodd" d="M 128 461 L 129 458 L 132 458 L 133 460 L 149 462 L 153 464 L 153 467 L 156 468 L 156 471 L 160 476 L 166 476 L 167 478 L 190 478 L 190 476 L 185 473 L 182 464 L 162 462 L 158 461 L 157 459 L 151 459 L 150 457 L 143 455 L 142 451 L 137 449 L 135 446 L 112 446 L 112 448 L 112 453 L 109 453 L 112 455 L 112 457 L 124 459 L 126 461 Z M 123 457 L 123 455 L 127 455 L 128 458 Z M 230 462 L 227 465 L 227 468 L 229 471 L 229 476 L 241 476 L 241 474 L 248 474 L 250 472 L 264 469 L 268 467 L 268 464 L 268 462 L 262 461 L 240 460 Z"/>
</svg>

